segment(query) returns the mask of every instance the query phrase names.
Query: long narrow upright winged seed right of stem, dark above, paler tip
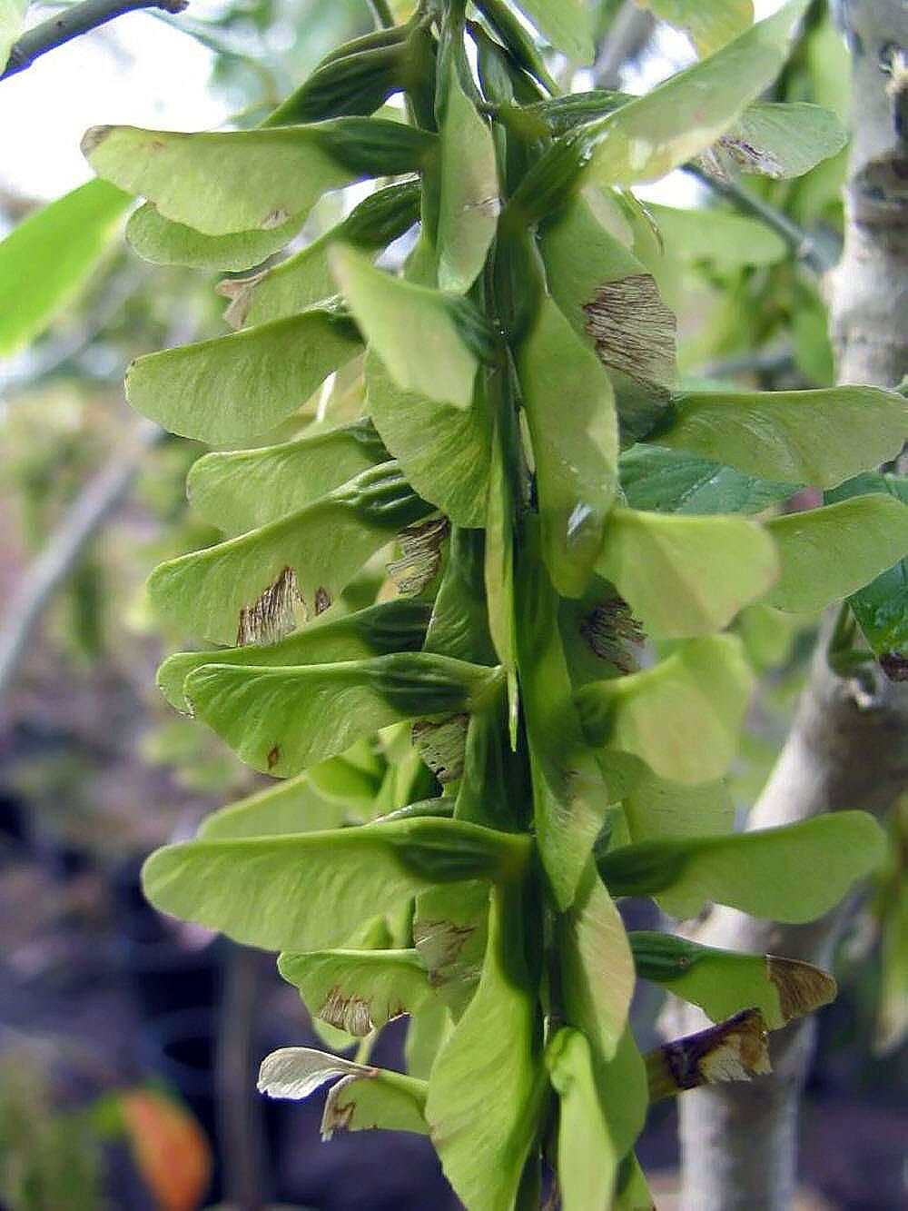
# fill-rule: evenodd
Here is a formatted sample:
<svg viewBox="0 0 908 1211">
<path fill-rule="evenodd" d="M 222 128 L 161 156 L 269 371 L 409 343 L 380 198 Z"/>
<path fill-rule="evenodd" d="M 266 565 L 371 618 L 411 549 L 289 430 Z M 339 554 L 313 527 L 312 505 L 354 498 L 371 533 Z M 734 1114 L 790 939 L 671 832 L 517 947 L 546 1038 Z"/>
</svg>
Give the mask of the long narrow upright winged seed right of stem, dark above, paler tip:
<svg viewBox="0 0 908 1211">
<path fill-rule="evenodd" d="M 536 844 L 558 907 L 574 899 L 609 793 L 585 744 L 558 631 L 558 601 L 527 528 L 516 599 L 522 705 L 533 764 Z"/>
</svg>

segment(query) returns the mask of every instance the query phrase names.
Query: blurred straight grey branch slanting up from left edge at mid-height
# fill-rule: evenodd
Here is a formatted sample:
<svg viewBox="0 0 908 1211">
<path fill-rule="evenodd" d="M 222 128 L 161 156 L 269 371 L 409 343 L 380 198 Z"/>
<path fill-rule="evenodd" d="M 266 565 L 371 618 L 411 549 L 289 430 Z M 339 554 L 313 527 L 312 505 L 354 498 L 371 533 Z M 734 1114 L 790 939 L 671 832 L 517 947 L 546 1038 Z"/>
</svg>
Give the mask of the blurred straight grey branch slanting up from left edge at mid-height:
<svg viewBox="0 0 908 1211">
<path fill-rule="evenodd" d="M 136 425 L 126 447 L 88 481 L 41 553 L 25 569 L 18 591 L 4 612 L 4 627 L 0 631 L 0 698 L 8 690 L 31 635 L 57 589 L 122 500 L 145 452 L 162 436 L 163 430 L 150 420 Z"/>
</svg>

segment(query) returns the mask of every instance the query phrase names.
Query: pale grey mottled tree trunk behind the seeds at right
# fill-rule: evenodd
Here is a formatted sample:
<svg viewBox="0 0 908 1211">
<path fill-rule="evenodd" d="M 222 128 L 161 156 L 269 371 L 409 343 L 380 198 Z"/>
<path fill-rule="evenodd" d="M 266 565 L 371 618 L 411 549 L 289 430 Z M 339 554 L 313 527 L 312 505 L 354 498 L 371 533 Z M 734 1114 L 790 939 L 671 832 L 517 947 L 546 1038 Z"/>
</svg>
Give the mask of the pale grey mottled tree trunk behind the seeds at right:
<svg viewBox="0 0 908 1211">
<path fill-rule="evenodd" d="M 839 381 L 895 386 L 908 373 L 908 6 L 845 0 L 839 16 L 852 52 L 854 107 L 845 246 L 826 282 L 831 331 Z M 881 672 L 872 687 L 835 676 L 826 637 L 751 828 L 846 808 L 883 815 L 908 786 L 908 684 Z M 822 965 L 847 913 L 843 906 L 794 928 L 714 908 L 696 937 Z M 703 1025 L 697 1010 L 678 1003 L 666 1018 L 673 1034 Z M 812 1041 L 811 1023 L 795 1023 L 772 1038 L 772 1075 L 683 1095 L 685 1211 L 793 1205 L 798 1106 Z"/>
</svg>

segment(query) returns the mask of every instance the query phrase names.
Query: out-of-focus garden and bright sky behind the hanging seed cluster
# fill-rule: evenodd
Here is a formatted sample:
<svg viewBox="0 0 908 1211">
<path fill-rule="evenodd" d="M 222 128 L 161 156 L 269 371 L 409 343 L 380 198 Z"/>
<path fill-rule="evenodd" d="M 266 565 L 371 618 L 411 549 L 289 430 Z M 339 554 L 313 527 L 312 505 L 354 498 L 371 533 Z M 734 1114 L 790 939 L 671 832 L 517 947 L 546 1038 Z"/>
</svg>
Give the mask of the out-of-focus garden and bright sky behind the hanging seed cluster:
<svg viewBox="0 0 908 1211">
<path fill-rule="evenodd" d="M 29 22 L 56 7 L 33 5 Z M 565 85 L 637 92 L 693 59 L 683 35 L 632 10 L 598 5 L 596 68 L 556 59 Z M 633 36 L 617 45 L 613 22 L 630 17 Z M 369 28 L 364 0 L 192 0 L 180 16 L 131 13 L 47 54 L 0 82 L 0 235 L 88 179 L 88 126 L 251 126 L 327 50 Z M 846 119 L 847 79 L 841 39 L 815 4 L 775 98 Z M 748 188 L 834 249 L 845 165 L 843 153 L 797 180 Z M 669 239 L 660 282 L 688 379 L 831 384 L 817 282 L 786 243 L 754 220 L 717 222 L 728 203 L 682 173 L 642 193 L 691 208 L 676 216 L 679 247 Z M 349 205 L 326 200 L 303 239 Z M 139 891 L 150 849 L 266 781 L 155 689 L 157 664 L 188 637 L 150 615 L 144 579 L 219 534 L 185 501 L 202 448 L 139 425 L 121 390 L 137 355 L 226 331 L 213 286 L 144 264 L 117 231 L 50 329 L 0 363 L 0 1206 L 456 1207 L 427 1141 L 321 1143 L 317 1096 L 259 1098 L 268 1051 L 322 1045 L 295 989 L 271 955 L 163 919 Z M 739 622 L 764 675 L 734 773 L 742 816 L 786 734 L 815 622 L 780 629 L 759 607 Z M 820 1015 L 805 1207 L 908 1205 L 898 878 L 893 860 L 840 947 L 841 995 Z M 628 906 L 637 928 L 654 924 L 649 912 Z M 644 1045 L 659 1010 L 653 991 L 636 1005 Z M 400 1021 L 383 1032 L 378 1063 L 401 1062 L 403 1034 Z M 663 1103 L 640 1144 L 660 1207 L 673 1205 L 674 1126 Z"/>
</svg>

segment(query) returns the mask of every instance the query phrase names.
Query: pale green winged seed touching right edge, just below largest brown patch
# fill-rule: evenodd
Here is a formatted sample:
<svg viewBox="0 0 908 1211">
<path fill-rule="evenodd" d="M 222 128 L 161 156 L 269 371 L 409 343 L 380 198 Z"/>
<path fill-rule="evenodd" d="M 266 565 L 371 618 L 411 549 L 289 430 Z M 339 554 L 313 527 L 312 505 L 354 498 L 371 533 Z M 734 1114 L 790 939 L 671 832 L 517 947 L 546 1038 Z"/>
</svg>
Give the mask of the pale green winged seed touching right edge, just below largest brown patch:
<svg viewBox="0 0 908 1211">
<path fill-rule="evenodd" d="M 895 458 L 908 430 L 908 400 L 874 386 L 682 392 L 672 403 L 660 446 L 817 488 Z"/>
</svg>

